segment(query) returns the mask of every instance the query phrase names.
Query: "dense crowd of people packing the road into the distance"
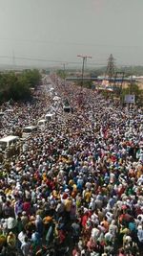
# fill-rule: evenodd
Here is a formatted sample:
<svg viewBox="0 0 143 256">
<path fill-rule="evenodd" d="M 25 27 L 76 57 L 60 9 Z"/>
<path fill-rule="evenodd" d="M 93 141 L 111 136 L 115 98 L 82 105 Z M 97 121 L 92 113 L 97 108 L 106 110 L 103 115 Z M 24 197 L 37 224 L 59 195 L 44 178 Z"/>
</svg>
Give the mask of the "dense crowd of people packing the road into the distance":
<svg viewBox="0 0 143 256">
<path fill-rule="evenodd" d="M 142 108 L 56 76 L 51 91 L 49 80 L 38 101 L 12 104 L 1 121 L 2 137 L 11 118 L 22 127 L 54 110 L 9 171 L 1 165 L 0 255 L 143 255 Z"/>
</svg>

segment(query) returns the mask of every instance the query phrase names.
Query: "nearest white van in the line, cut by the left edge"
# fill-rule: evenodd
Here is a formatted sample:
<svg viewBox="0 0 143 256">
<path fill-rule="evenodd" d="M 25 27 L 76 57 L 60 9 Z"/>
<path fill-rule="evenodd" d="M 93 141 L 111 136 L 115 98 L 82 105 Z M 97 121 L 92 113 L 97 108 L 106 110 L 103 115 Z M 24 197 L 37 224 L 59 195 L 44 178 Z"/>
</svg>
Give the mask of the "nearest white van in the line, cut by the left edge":
<svg viewBox="0 0 143 256">
<path fill-rule="evenodd" d="M 10 146 L 15 145 L 19 141 L 18 136 L 7 136 L 2 139 L 0 139 L 0 149 L 2 151 L 5 151 L 6 149 L 9 149 Z"/>
</svg>

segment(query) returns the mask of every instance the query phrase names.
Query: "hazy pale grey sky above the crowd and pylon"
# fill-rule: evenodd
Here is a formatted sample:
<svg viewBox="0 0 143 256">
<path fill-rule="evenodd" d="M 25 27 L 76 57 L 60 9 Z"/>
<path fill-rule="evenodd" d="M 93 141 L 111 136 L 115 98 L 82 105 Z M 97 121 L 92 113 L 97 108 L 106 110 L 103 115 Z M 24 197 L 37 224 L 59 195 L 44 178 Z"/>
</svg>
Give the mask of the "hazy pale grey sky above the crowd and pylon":
<svg viewBox="0 0 143 256">
<path fill-rule="evenodd" d="M 0 64 L 143 64 L 142 25 L 143 0 L 0 0 Z"/>
</svg>

